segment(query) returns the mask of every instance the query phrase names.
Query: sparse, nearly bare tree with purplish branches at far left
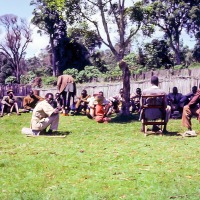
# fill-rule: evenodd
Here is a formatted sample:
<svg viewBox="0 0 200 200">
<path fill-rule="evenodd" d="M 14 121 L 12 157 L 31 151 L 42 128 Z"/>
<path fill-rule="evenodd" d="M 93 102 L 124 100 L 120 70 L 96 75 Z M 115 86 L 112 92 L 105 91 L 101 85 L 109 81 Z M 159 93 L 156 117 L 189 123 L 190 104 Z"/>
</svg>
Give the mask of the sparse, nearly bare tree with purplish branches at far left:
<svg viewBox="0 0 200 200">
<path fill-rule="evenodd" d="M 25 20 L 15 15 L 3 15 L 0 17 L 0 25 L 5 30 L 4 41 L 0 42 L 0 53 L 11 62 L 17 82 L 23 71 L 24 59 L 28 44 L 31 40 L 31 29 Z"/>
</svg>

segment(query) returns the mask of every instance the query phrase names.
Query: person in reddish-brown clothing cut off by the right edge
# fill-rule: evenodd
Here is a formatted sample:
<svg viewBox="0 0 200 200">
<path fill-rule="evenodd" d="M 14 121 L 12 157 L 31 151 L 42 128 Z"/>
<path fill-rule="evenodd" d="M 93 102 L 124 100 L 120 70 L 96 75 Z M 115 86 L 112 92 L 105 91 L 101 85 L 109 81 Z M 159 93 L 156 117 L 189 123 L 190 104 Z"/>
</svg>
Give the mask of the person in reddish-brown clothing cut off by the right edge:
<svg viewBox="0 0 200 200">
<path fill-rule="evenodd" d="M 183 107 L 182 125 L 192 131 L 191 118 L 193 115 L 197 116 L 200 122 L 200 89 L 195 93 L 190 102 Z"/>
</svg>

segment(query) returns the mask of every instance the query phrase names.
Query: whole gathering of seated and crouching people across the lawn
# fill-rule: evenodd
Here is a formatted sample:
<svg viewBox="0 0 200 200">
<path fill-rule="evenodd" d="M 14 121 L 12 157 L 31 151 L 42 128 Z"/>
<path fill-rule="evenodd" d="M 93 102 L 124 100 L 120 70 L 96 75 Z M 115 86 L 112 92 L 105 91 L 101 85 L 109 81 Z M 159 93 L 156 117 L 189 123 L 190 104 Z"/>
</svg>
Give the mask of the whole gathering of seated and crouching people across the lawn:
<svg viewBox="0 0 200 200">
<path fill-rule="evenodd" d="M 164 94 L 166 96 L 166 123 L 169 118 L 173 116 L 173 113 L 177 114 L 178 112 L 182 116 L 183 126 L 186 126 L 188 130 L 192 130 L 191 117 L 197 115 L 200 120 L 200 90 L 197 90 L 197 86 L 194 86 L 189 94 L 182 95 L 178 93 L 177 87 L 173 87 L 172 93 L 167 95 L 165 91 L 158 87 L 158 83 L 158 77 L 152 76 L 152 86 L 150 88 L 143 91 L 137 88 L 136 92 L 130 96 L 130 111 L 140 113 L 142 95 Z M 95 119 L 99 123 L 108 123 L 110 121 L 110 114 L 113 112 L 120 112 L 123 101 L 123 89 L 120 89 L 119 94 L 109 99 L 104 97 L 102 91 L 94 92 L 91 96 L 84 89 L 80 97 L 77 97 L 77 99 L 73 101 L 70 109 L 73 111 L 73 114 L 82 112 L 88 116 L 88 118 Z M 7 96 L 4 96 L 1 101 L 1 105 L 1 117 L 4 116 L 4 113 L 10 115 L 14 110 L 17 115 L 20 115 L 18 104 L 12 90 L 8 90 Z M 45 98 L 42 98 L 34 94 L 33 90 L 30 90 L 29 94 L 23 99 L 23 112 L 33 112 L 31 124 L 35 134 L 46 129 L 50 124 L 52 127 L 50 127 L 49 133 L 51 133 L 52 130 L 57 130 L 59 119 L 57 115 L 61 112 L 64 114 L 66 113 L 64 105 L 66 105 L 66 102 L 64 102 L 60 93 L 56 93 L 55 96 L 52 93 L 47 93 Z M 155 118 L 156 115 L 159 115 L 159 112 L 147 113 L 149 118 Z M 166 131 L 166 127 L 164 127 L 164 131 Z"/>
</svg>

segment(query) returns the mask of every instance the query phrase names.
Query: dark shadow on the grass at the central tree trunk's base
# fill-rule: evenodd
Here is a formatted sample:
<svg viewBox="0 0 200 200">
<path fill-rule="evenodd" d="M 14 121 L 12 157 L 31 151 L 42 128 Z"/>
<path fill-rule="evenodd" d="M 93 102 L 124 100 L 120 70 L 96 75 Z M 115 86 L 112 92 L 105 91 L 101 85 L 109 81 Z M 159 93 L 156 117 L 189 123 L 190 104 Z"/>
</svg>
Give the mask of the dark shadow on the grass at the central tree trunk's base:
<svg viewBox="0 0 200 200">
<path fill-rule="evenodd" d="M 132 123 L 134 121 L 139 120 L 139 115 L 138 114 L 131 114 L 129 116 L 123 116 L 123 115 L 117 115 L 112 117 L 111 121 L 109 123 Z"/>
</svg>

